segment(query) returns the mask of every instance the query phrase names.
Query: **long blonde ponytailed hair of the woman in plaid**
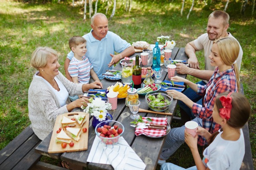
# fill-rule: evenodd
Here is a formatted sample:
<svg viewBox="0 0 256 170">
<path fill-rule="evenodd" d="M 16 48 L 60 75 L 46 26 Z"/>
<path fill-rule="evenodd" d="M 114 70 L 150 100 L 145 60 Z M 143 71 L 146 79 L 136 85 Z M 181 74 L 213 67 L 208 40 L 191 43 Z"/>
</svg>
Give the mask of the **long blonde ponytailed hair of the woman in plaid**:
<svg viewBox="0 0 256 170">
<path fill-rule="evenodd" d="M 236 59 L 239 55 L 239 43 L 232 37 L 224 37 L 215 40 L 214 43 L 218 45 L 218 52 L 221 60 L 225 65 L 234 65 L 234 70 L 236 73 L 237 88 L 240 87 L 239 81 L 239 70 L 236 64 Z"/>
</svg>

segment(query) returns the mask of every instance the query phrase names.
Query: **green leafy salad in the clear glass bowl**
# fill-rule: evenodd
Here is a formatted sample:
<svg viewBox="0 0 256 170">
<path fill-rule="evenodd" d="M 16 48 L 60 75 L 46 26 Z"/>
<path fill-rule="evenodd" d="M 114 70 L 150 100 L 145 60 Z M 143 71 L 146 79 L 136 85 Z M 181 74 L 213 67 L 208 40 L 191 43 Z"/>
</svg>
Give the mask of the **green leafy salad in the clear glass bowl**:
<svg viewBox="0 0 256 170">
<path fill-rule="evenodd" d="M 166 110 L 169 107 L 170 102 L 171 102 L 171 101 L 165 99 L 164 96 L 162 96 L 160 93 L 157 94 L 156 96 L 149 94 L 147 100 L 149 102 L 149 104 L 148 104 L 149 107 L 156 111 Z M 159 107 L 161 107 L 161 108 L 159 108 Z"/>
</svg>

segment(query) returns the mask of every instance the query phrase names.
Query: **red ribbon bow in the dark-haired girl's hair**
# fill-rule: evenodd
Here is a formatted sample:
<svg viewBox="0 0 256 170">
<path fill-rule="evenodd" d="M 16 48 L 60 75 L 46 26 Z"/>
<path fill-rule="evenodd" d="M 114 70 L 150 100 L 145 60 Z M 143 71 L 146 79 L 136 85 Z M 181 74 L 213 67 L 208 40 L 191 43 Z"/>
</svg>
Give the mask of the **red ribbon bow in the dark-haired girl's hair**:
<svg viewBox="0 0 256 170">
<path fill-rule="evenodd" d="M 227 97 L 225 96 L 221 96 L 220 101 L 221 101 L 221 105 L 223 106 L 223 108 L 220 109 L 220 116 L 223 119 L 230 119 L 230 111 L 232 109 L 232 98 L 230 97 L 230 95 L 232 94 L 232 92 L 230 92 Z"/>
</svg>

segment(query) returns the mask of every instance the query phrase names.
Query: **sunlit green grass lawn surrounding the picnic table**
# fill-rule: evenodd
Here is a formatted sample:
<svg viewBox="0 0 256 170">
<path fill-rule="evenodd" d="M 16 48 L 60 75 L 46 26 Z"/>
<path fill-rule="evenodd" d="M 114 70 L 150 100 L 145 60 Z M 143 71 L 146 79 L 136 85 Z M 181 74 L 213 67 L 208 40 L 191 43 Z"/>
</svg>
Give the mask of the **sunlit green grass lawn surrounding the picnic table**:
<svg viewBox="0 0 256 170">
<path fill-rule="evenodd" d="M 84 35 L 90 31 L 90 20 L 83 21 L 83 7 L 65 3 L 22 3 L 13 0 L 0 0 L 0 149 L 5 147 L 29 124 L 28 88 L 35 73 L 29 65 L 32 51 L 39 46 L 49 46 L 58 51 L 64 73 L 64 59 L 70 51 L 68 40 L 74 35 Z M 180 16 L 182 0 L 133 0 L 131 13 L 125 12 L 125 5 L 117 4 L 116 14 L 109 21 L 110 31 L 115 32 L 128 42 L 147 41 L 154 44 L 156 38 L 171 35 L 177 47 L 205 33 L 208 15 L 215 9 L 223 9 L 224 3 L 212 1 L 196 2 L 189 20 L 186 20 L 191 0 L 186 0 L 183 16 Z M 209 3 L 209 0 L 207 1 Z M 102 3 L 102 2 L 101 2 Z M 105 13 L 105 3 L 98 4 L 98 12 Z M 230 14 L 228 31 L 239 40 L 243 48 L 241 81 L 244 93 L 250 101 L 252 116 L 249 120 L 250 142 L 254 168 L 256 168 L 256 21 L 251 17 L 252 4 L 247 4 L 244 15 L 240 15 L 241 3 L 231 1 L 227 8 Z M 89 10 L 87 10 L 89 11 Z M 110 16 L 112 8 L 108 11 Z M 201 68 L 204 54 L 197 52 Z M 193 82 L 198 81 L 188 76 Z M 172 127 L 180 123 L 173 122 Z M 202 150 L 202 148 L 200 148 Z M 57 164 L 58 160 L 43 157 L 43 161 Z M 194 164 L 186 144 L 169 159 L 183 167 Z M 160 169 L 158 166 L 157 169 Z"/>
</svg>

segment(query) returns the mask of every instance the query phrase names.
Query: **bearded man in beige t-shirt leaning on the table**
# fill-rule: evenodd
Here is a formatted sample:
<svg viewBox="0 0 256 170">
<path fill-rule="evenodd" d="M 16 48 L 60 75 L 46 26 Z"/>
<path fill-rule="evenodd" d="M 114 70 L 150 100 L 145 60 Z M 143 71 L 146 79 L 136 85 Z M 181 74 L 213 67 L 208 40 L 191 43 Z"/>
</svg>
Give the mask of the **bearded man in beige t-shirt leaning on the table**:
<svg viewBox="0 0 256 170">
<path fill-rule="evenodd" d="M 217 40 L 221 37 L 233 37 L 227 29 L 229 27 L 229 15 L 224 11 L 214 11 L 208 17 L 207 24 L 207 33 L 202 34 L 196 40 L 193 40 L 186 44 L 185 52 L 188 59 L 188 65 L 177 63 L 176 71 L 178 74 L 189 74 L 191 76 L 202 79 L 202 81 L 197 82 L 200 85 L 206 85 L 210 77 L 212 76 L 215 67 L 210 65 L 209 55 L 211 54 L 211 48 L 214 40 Z M 234 37 L 233 37 L 234 38 Z M 239 44 L 240 51 L 236 64 L 240 71 L 241 61 L 243 56 L 243 51 L 241 45 Z M 198 59 L 195 55 L 196 51 L 204 50 L 204 70 L 200 70 Z M 189 97 L 193 102 L 202 104 L 202 96 L 199 96 L 191 88 L 188 88 L 183 92 L 186 96 Z M 178 102 L 180 105 L 181 119 L 183 122 L 189 121 L 191 118 L 194 118 L 194 114 L 191 112 L 191 109 L 188 108 L 183 102 Z"/>
</svg>

